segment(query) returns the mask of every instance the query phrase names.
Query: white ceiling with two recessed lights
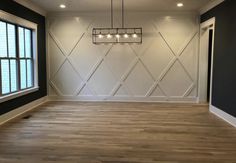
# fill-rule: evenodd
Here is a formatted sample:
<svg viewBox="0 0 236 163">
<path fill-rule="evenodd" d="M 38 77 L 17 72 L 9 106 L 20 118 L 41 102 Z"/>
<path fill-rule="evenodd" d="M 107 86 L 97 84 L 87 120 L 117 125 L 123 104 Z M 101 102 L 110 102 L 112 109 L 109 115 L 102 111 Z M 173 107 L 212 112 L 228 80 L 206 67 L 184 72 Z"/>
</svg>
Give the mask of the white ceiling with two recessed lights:
<svg viewBox="0 0 236 163">
<path fill-rule="evenodd" d="M 48 12 L 54 11 L 109 11 L 110 0 L 31 0 Z M 125 0 L 128 11 L 197 11 L 212 0 Z M 121 0 L 114 0 L 114 8 L 119 9 Z M 177 8 L 178 2 L 184 7 Z M 60 9 L 60 4 L 66 9 Z"/>
</svg>

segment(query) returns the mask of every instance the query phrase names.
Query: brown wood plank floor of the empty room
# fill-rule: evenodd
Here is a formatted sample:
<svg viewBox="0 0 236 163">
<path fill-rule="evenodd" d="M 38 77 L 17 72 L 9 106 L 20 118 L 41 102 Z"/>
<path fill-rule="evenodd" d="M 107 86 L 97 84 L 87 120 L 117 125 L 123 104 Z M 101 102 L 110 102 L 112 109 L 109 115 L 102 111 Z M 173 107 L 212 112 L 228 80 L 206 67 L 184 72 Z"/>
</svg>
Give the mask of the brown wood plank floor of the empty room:
<svg viewBox="0 0 236 163">
<path fill-rule="evenodd" d="M 231 163 L 236 129 L 206 105 L 50 102 L 0 128 L 1 163 Z"/>
</svg>

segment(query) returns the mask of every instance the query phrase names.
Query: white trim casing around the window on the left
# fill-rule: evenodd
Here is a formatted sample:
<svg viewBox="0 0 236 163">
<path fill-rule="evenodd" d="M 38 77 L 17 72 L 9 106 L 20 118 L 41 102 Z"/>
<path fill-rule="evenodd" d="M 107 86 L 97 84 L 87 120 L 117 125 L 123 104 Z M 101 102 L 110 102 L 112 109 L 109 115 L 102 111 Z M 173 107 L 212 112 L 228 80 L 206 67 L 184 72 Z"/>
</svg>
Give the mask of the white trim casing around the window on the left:
<svg viewBox="0 0 236 163">
<path fill-rule="evenodd" d="M 12 100 L 14 98 L 27 95 L 29 93 L 33 93 L 39 90 L 38 85 L 38 25 L 30 22 L 28 20 L 22 19 L 15 15 L 9 14 L 5 11 L 0 10 L 0 18 L 7 22 L 18 24 L 20 26 L 30 28 L 33 31 L 33 57 L 34 57 L 34 87 L 29 88 L 23 91 L 18 91 L 16 93 L 12 93 L 6 96 L 0 97 L 0 103 Z"/>
</svg>

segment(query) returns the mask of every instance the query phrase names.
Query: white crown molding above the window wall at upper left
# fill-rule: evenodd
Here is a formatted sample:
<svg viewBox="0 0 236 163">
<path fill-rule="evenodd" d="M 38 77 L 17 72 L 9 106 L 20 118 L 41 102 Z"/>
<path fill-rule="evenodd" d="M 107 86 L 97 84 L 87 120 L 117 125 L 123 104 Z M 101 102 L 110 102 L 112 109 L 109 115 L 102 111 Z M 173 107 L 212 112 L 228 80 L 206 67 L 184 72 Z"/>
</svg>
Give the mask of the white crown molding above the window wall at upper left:
<svg viewBox="0 0 236 163">
<path fill-rule="evenodd" d="M 29 0 L 14 0 L 15 2 L 21 4 L 22 6 L 27 7 L 28 9 L 31 9 L 32 11 L 37 12 L 38 14 L 42 16 L 46 16 L 47 12 L 42 9 L 41 7 L 37 6 L 33 2 L 30 2 Z"/>
</svg>

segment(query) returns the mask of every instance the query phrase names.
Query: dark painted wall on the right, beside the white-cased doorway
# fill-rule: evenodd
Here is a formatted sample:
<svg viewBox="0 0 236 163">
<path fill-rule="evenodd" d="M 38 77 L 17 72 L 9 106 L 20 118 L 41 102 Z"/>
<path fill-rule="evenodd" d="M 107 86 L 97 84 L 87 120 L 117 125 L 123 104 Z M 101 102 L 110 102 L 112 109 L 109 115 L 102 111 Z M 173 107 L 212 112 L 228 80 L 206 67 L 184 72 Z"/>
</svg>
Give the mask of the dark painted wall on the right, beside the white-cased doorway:
<svg viewBox="0 0 236 163">
<path fill-rule="evenodd" d="M 225 0 L 201 15 L 201 22 L 212 17 L 216 17 L 212 103 L 236 117 L 236 0 Z"/>
</svg>

